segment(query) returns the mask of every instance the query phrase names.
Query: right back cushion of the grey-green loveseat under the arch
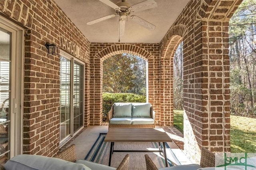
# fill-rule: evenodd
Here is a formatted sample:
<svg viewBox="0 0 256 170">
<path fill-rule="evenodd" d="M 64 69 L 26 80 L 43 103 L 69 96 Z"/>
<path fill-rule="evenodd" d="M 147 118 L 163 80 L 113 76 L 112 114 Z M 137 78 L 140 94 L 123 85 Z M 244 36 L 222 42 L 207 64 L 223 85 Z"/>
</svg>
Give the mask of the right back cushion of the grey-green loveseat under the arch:
<svg viewBox="0 0 256 170">
<path fill-rule="evenodd" d="M 132 117 L 151 117 L 150 107 L 150 103 L 133 103 Z"/>
</svg>

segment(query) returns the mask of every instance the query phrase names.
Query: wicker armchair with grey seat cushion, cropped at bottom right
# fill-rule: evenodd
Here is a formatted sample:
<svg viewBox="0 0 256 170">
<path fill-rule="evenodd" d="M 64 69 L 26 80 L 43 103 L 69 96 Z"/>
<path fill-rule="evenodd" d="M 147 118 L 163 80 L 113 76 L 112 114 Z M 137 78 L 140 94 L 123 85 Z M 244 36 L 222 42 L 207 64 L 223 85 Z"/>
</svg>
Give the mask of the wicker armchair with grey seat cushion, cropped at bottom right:
<svg viewBox="0 0 256 170">
<path fill-rule="evenodd" d="M 147 154 L 145 155 L 145 159 L 146 159 L 147 170 L 161 170 L 161 168 L 158 169 L 156 167 L 154 162 L 150 159 L 150 157 Z M 182 166 L 182 168 L 181 168 L 181 166 Z M 185 168 L 185 166 L 187 166 L 187 168 Z M 214 155 L 214 153 L 211 152 L 210 150 L 204 148 L 204 147 L 202 147 L 202 149 L 201 149 L 200 166 L 202 168 L 214 167 L 215 166 L 215 155 Z M 181 169 L 188 169 L 188 170 L 197 170 L 198 168 L 200 168 L 200 166 L 198 164 L 178 165 L 178 166 L 172 166 L 172 167 L 164 168 L 164 170 L 179 170 L 180 168 Z"/>
</svg>

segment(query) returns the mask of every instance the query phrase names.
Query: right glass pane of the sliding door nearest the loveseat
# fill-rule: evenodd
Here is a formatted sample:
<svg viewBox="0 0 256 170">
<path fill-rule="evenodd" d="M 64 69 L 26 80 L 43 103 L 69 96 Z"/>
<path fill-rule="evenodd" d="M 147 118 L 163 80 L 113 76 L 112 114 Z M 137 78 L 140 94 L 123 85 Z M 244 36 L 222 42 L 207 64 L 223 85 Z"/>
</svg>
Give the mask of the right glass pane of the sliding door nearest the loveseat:
<svg viewBox="0 0 256 170">
<path fill-rule="evenodd" d="M 73 131 L 78 131 L 83 126 L 84 109 L 84 66 L 74 61 L 74 118 Z"/>
</svg>

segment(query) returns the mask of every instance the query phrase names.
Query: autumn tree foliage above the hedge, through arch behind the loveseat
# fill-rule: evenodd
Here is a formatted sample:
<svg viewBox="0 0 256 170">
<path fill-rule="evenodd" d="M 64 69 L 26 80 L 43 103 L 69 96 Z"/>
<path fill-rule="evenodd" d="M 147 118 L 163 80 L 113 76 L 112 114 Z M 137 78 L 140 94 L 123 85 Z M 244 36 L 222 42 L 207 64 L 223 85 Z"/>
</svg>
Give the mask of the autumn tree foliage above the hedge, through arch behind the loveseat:
<svg viewBox="0 0 256 170">
<path fill-rule="evenodd" d="M 103 62 L 103 92 L 146 96 L 146 61 L 123 53 Z"/>
</svg>

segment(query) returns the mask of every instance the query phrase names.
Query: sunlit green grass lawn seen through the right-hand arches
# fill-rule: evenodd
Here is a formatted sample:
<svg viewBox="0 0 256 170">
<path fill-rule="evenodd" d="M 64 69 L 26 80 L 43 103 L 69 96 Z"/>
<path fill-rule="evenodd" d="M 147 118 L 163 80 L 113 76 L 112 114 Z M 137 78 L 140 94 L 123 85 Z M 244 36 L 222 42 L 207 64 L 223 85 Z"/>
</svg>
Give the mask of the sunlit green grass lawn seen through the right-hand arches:
<svg viewBox="0 0 256 170">
<path fill-rule="evenodd" d="M 256 152 L 256 119 L 230 116 L 231 152 Z M 183 110 L 174 110 L 174 126 L 183 133 Z"/>
</svg>

